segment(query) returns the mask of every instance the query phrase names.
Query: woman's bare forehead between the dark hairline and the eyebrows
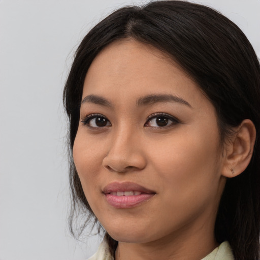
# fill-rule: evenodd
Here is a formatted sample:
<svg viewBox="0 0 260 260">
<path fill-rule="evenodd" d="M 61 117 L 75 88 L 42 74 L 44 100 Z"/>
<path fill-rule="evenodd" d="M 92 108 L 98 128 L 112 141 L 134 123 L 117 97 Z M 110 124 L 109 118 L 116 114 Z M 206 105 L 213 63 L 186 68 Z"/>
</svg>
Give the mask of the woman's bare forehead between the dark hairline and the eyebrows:
<svg viewBox="0 0 260 260">
<path fill-rule="evenodd" d="M 95 57 L 85 78 L 83 99 L 89 94 L 124 102 L 147 94 L 173 94 L 198 104 L 205 99 L 173 59 L 135 40 L 113 42 Z"/>
</svg>

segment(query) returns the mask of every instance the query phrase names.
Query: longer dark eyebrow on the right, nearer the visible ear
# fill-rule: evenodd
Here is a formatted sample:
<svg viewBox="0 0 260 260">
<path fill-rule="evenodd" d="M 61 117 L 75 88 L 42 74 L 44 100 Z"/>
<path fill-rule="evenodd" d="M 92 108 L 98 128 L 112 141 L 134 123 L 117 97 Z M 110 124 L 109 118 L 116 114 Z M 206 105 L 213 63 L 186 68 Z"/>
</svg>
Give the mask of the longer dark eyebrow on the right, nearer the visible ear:
<svg viewBox="0 0 260 260">
<path fill-rule="evenodd" d="M 147 95 L 147 96 L 144 96 L 143 98 L 138 99 L 137 105 L 146 106 L 146 105 L 152 105 L 152 104 L 159 103 L 159 102 L 177 102 L 177 103 L 180 103 L 180 104 L 183 104 L 183 105 L 186 105 L 186 106 L 192 108 L 191 105 L 187 101 L 185 101 L 181 98 L 178 98 L 178 96 L 175 96 L 172 94 Z"/>
</svg>

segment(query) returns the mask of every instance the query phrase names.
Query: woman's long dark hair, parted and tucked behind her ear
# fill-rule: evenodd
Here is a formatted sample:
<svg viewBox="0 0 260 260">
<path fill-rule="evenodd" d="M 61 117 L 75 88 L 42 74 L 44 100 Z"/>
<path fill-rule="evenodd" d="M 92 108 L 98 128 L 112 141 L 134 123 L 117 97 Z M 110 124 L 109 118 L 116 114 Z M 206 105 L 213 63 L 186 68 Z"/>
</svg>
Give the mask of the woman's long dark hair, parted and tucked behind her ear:
<svg viewBox="0 0 260 260">
<path fill-rule="evenodd" d="M 260 67 L 243 32 L 209 7 L 183 1 L 151 2 L 121 8 L 89 31 L 75 54 L 63 92 L 72 151 L 77 134 L 83 82 L 95 56 L 108 44 L 125 38 L 149 44 L 172 57 L 201 87 L 216 109 L 223 143 L 243 119 L 256 127 L 253 157 L 247 169 L 227 180 L 215 223 L 218 243 L 228 240 L 235 259 L 259 259 L 260 234 Z M 93 218 L 73 159 L 70 161 L 72 211 L 83 212 L 83 227 Z M 99 224 L 100 225 L 100 224 Z M 101 225 L 100 225 L 101 226 Z M 105 234 L 114 253 L 117 241 Z"/>
</svg>

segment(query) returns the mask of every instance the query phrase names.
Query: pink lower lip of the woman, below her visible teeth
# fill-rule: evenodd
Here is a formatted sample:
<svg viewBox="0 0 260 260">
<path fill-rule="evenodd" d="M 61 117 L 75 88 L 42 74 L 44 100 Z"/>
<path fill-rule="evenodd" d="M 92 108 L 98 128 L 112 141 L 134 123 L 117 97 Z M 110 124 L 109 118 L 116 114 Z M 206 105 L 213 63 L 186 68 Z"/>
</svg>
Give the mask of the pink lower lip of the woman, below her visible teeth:
<svg viewBox="0 0 260 260">
<path fill-rule="evenodd" d="M 134 196 L 114 196 L 110 193 L 105 194 L 108 204 L 120 209 L 134 208 L 148 201 L 154 195 L 154 193 L 141 193 L 140 195 Z"/>
</svg>

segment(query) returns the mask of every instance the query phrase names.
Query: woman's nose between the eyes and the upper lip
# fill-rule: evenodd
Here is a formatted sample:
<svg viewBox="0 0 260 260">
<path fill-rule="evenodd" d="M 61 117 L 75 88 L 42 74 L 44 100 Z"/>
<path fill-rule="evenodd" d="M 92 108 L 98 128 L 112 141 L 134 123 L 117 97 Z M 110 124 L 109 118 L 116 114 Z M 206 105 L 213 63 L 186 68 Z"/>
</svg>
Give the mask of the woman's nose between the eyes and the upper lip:
<svg viewBox="0 0 260 260">
<path fill-rule="evenodd" d="M 133 131 L 121 131 L 115 134 L 103 159 L 103 166 L 109 171 L 118 173 L 144 169 L 146 158 L 140 138 Z"/>
</svg>

